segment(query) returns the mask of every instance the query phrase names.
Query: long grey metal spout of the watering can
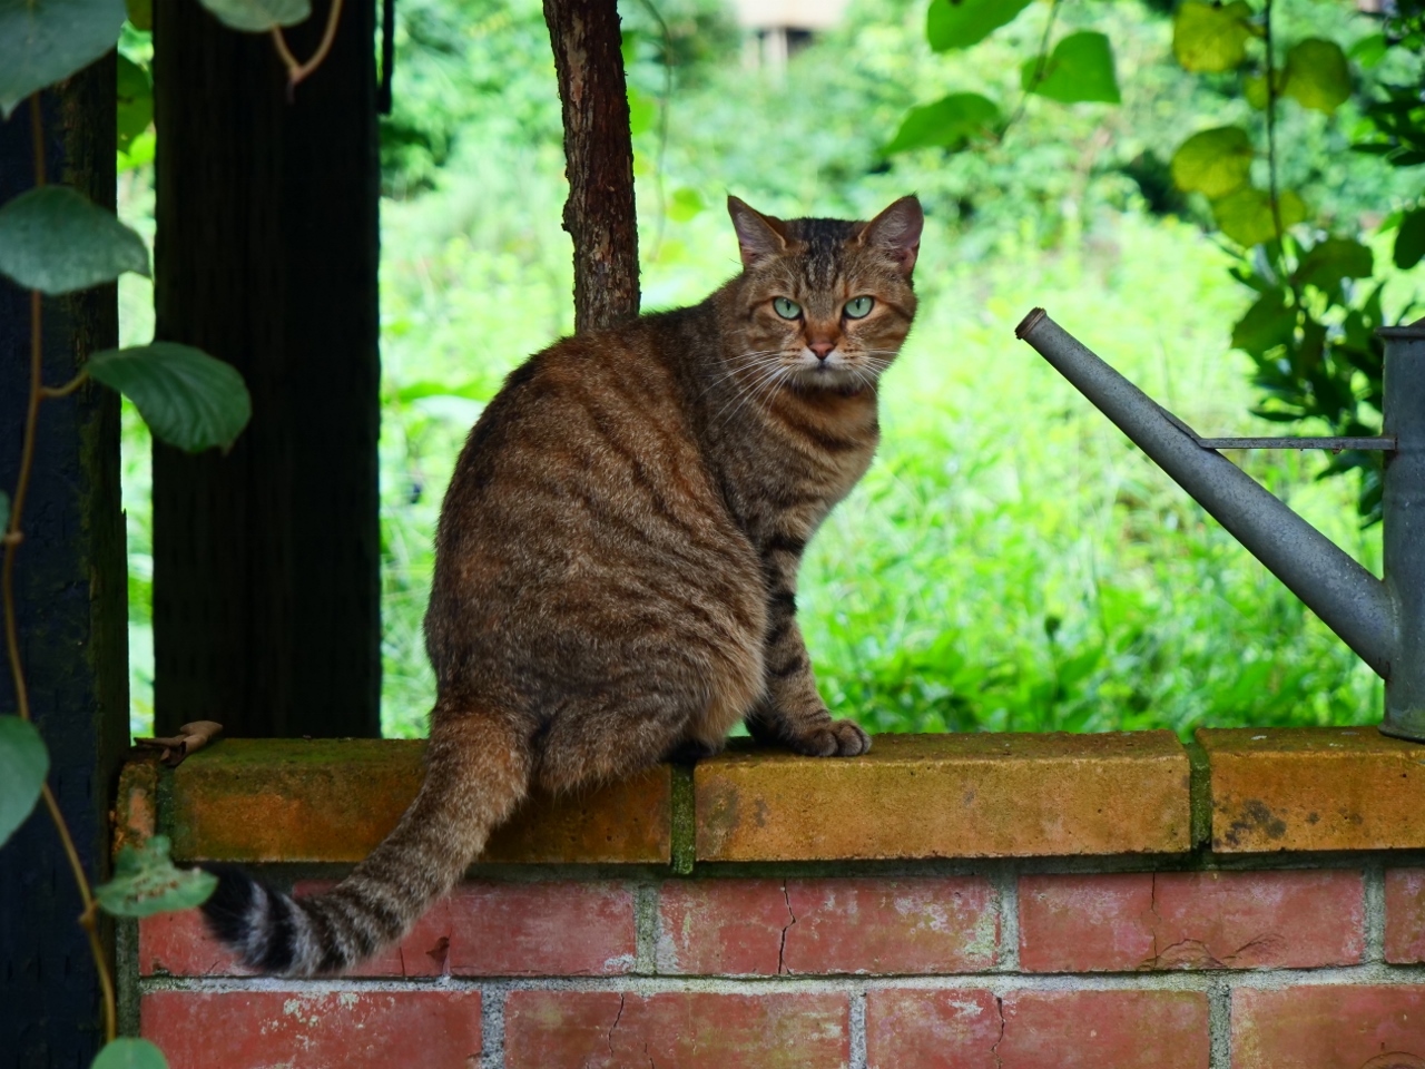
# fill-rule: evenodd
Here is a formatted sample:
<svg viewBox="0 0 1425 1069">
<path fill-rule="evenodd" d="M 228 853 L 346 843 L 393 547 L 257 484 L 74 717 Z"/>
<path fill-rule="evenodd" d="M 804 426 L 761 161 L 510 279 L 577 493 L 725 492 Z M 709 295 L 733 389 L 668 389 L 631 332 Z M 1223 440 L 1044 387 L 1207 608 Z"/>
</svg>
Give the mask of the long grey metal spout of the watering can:
<svg viewBox="0 0 1425 1069">
<path fill-rule="evenodd" d="M 1186 423 L 1086 349 L 1045 309 L 1036 308 L 1025 316 L 1015 334 L 1089 398 L 1389 684 L 1392 663 L 1399 657 L 1399 627 L 1396 603 L 1387 583 L 1216 449 L 1201 445 Z M 1421 727 L 1425 728 L 1425 710 Z"/>
</svg>

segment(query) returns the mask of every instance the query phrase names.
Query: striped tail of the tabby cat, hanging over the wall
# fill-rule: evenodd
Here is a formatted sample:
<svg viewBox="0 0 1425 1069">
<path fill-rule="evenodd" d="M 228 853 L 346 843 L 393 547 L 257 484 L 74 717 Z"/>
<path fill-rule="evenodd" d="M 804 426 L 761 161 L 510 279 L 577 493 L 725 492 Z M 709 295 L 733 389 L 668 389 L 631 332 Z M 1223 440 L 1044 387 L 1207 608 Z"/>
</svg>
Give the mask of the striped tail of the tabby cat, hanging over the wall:
<svg viewBox="0 0 1425 1069">
<path fill-rule="evenodd" d="M 493 717 L 433 717 L 426 780 L 396 830 L 329 892 L 291 898 L 215 868 L 208 926 L 249 968 L 336 974 L 400 939 L 450 889 L 529 788 L 527 744 Z M 439 718 L 437 718 L 439 717 Z"/>
</svg>

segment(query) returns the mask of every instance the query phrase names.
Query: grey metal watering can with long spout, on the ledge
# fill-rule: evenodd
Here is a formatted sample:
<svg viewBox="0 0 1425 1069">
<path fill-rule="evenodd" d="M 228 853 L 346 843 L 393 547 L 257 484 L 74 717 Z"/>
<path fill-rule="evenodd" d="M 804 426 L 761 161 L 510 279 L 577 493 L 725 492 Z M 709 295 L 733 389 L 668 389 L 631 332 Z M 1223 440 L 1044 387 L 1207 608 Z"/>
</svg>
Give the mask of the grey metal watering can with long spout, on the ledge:
<svg viewBox="0 0 1425 1069">
<path fill-rule="evenodd" d="M 1385 680 L 1381 733 L 1425 743 L 1425 319 L 1385 339 L 1381 438 L 1200 438 L 1036 308 L 1015 328 Z M 1217 449 L 1385 452 L 1377 579 Z"/>
</svg>

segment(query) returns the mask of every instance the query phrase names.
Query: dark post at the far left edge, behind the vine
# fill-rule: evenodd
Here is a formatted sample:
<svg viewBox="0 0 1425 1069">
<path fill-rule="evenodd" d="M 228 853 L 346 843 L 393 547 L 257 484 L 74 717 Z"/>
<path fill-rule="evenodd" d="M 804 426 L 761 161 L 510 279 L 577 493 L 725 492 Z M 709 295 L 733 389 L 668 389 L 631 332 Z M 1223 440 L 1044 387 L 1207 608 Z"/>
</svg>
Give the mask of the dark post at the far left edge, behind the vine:
<svg viewBox="0 0 1425 1069">
<path fill-rule="evenodd" d="M 114 207 L 114 56 L 41 95 L 48 180 Z M 34 185 L 30 107 L 0 121 L 0 204 Z M 118 342 L 114 285 L 43 302 L 44 381 Z M 30 393 L 30 294 L 0 278 L 0 489 L 14 493 Z M 91 879 L 108 875 L 108 807 L 128 741 L 118 395 L 40 403 L 24 542 L 14 563 L 20 657 L 50 751 L 50 787 Z M 14 714 L 0 656 L 0 714 Z M 43 805 L 0 848 L 0 1062 L 87 1066 L 104 1040 L 83 907 Z M 100 932 L 113 956 L 113 925 Z M 113 966 L 113 961 L 110 962 Z"/>
</svg>

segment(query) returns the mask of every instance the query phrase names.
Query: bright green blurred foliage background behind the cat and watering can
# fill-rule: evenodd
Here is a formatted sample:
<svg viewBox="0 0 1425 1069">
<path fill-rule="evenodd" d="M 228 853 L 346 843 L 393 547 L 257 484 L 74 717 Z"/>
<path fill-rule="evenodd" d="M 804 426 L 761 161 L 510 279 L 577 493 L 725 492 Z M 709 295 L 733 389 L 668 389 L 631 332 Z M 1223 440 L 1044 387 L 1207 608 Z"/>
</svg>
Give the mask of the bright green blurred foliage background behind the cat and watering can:
<svg viewBox="0 0 1425 1069">
<path fill-rule="evenodd" d="M 1375 720 L 1371 673 L 1013 339 L 1045 305 L 1198 429 L 1275 432 L 1250 415 L 1255 365 L 1231 349 L 1254 296 L 1228 274 L 1238 255 L 1168 170 L 1198 130 L 1260 127 L 1237 76 L 1183 71 L 1157 4 L 1063 3 L 1056 37 L 1112 40 L 1120 105 L 1029 98 L 1002 141 L 882 153 L 918 104 L 1016 101 L 1049 10 L 1030 4 L 975 48 L 938 56 L 925 0 L 854 0 L 778 77 L 747 66 L 754 46 L 717 0 L 660 3 L 667 38 L 647 6 L 626 3 L 644 306 L 700 299 L 737 269 L 727 192 L 788 215 L 865 218 L 909 191 L 926 205 L 923 305 L 885 381 L 881 458 L 804 572 L 804 629 L 839 714 L 901 731 Z M 1328 0 L 1275 10 L 1282 40 L 1349 47 L 1372 29 Z M 383 724 L 405 735 L 423 731 L 433 694 L 420 616 L 456 450 L 502 376 L 573 316 L 539 4 L 399 11 L 382 144 Z M 1282 184 L 1317 221 L 1354 229 L 1414 202 L 1408 174 L 1348 151 L 1359 127 L 1355 100 L 1332 115 L 1281 108 Z M 145 168 L 124 181 L 142 229 Z M 1389 264 L 1388 241 L 1374 241 Z M 1385 274 L 1384 305 L 1398 311 L 1418 271 Z M 145 284 L 124 286 L 138 325 Z M 141 426 L 127 426 L 141 721 L 147 476 Z M 1379 530 L 1359 529 L 1349 480 L 1318 482 L 1310 455 L 1235 459 L 1378 572 Z"/>
</svg>

